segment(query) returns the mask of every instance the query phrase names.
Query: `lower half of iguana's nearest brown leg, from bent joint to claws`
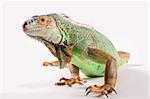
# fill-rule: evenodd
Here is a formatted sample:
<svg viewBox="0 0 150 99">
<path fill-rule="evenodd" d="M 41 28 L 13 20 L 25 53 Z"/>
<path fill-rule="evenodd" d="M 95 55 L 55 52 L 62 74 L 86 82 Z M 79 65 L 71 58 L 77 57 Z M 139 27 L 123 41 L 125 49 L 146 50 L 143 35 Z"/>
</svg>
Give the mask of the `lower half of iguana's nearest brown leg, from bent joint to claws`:
<svg viewBox="0 0 150 99">
<path fill-rule="evenodd" d="M 93 85 L 89 86 L 86 91 L 88 95 L 90 92 L 93 92 L 97 94 L 98 96 L 106 95 L 108 97 L 108 94 L 111 92 L 115 92 L 114 90 L 117 80 L 117 66 L 116 66 L 116 60 L 108 60 L 106 63 L 106 69 L 105 69 L 105 84 L 100 85 Z"/>
</svg>

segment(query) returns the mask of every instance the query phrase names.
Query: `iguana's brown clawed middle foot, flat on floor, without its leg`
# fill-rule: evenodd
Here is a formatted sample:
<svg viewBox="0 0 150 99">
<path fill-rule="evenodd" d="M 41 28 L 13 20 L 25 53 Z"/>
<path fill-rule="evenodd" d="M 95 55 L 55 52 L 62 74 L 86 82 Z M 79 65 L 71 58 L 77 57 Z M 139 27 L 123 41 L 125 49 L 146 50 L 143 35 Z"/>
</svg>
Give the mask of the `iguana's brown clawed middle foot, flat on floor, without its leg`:
<svg viewBox="0 0 150 99">
<path fill-rule="evenodd" d="M 61 81 L 63 81 L 63 82 L 61 82 Z M 77 77 L 77 78 L 70 78 L 70 79 L 65 78 L 65 77 L 62 77 L 62 78 L 59 80 L 58 83 L 55 83 L 55 85 L 58 85 L 58 86 L 60 86 L 60 85 L 68 85 L 69 87 L 71 87 L 71 86 L 72 86 L 73 84 L 75 84 L 75 83 L 78 83 L 78 84 L 83 85 L 83 83 L 86 83 L 86 81 L 80 79 L 80 77 Z"/>
</svg>

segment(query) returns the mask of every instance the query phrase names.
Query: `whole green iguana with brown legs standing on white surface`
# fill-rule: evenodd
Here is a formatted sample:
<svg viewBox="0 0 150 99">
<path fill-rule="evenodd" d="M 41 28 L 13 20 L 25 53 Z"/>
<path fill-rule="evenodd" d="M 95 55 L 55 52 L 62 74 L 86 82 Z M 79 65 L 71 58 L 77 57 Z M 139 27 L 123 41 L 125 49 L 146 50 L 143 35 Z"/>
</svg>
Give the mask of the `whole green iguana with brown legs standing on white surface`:
<svg viewBox="0 0 150 99">
<path fill-rule="evenodd" d="M 114 90 L 117 67 L 128 61 L 129 53 L 117 51 L 111 41 L 94 28 L 73 21 L 64 14 L 33 16 L 23 24 L 23 31 L 43 42 L 58 61 L 44 62 L 44 66 L 68 67 L 71 78 L 62 77 L 56 85 L 85 82 L 79 70 L 89 77 L 104 76 L 104 85 L 92 85 L 86 89 L 98 96 Z M 62 82 L 63 81 L 63 82 Z"/>
</svg>

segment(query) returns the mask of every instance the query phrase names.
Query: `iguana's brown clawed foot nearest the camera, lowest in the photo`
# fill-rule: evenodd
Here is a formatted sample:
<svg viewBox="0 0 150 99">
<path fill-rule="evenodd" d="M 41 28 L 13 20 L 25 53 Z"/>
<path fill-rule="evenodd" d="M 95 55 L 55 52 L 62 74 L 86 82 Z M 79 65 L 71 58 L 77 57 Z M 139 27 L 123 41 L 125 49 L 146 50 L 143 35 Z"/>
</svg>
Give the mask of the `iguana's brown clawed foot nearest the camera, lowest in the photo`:
<svg viewBox="0 0 150 99">
<path fill-rule="evenodd" d="M 111 87 L 111 85 L 109 84 L 104 84 L 102 86 L 100 85 L 93 85 L 93 86 L 89 86 L 87 89 L 86 89 L 86 96 L 93 92 L 95 94 L 97 94 L 97 96 L 102 96 L 102 95 L 106 95 L 108 97 L 108 94 L 109 93 L 112 93 L 112 92 L 115 92 L 117 94 L 117 92 L 114 90 L 113 87 Z"/>
</svg>

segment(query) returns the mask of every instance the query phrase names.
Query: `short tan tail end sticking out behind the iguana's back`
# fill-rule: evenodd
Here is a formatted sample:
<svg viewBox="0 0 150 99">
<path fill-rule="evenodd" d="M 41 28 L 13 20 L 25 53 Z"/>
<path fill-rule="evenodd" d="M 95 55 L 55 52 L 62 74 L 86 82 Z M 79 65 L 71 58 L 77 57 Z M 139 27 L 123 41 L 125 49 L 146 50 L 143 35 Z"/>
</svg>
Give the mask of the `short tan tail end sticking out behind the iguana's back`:
<svg viewBox="0 0 150 99">
<path fill-rule="evenodd" d="M 130 54 L 129 53 L 123 52 L 123 51 L 118 51 L 118 54 L 119 54 L 119 56 L 121 58 L 121 61 L 122 61 L 120 65 L 128 62 L 128 60 L 130 58 Z"/>
</svg>

